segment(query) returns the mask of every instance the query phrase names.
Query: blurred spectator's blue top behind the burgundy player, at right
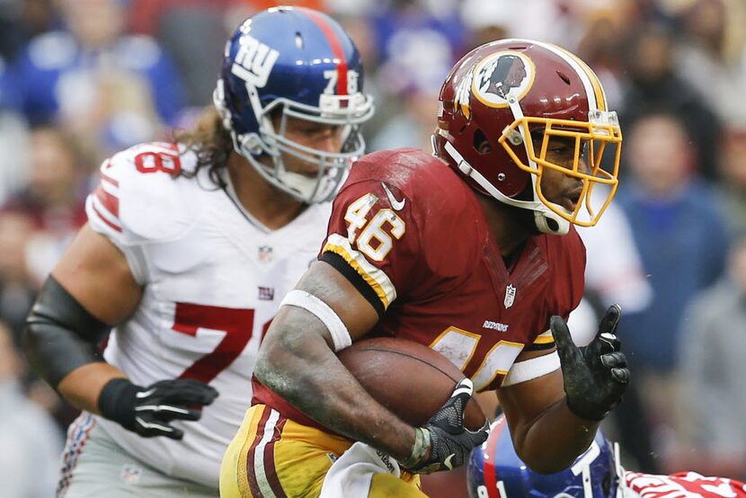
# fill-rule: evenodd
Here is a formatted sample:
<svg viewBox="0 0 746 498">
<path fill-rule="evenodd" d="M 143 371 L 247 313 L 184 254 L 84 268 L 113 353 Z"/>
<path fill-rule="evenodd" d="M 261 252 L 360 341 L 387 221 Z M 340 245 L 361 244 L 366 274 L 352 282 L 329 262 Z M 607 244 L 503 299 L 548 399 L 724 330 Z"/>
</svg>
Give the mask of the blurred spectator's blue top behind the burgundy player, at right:
<svg viewBox="0 0 746 498">
<path fill-rule="evenodd" d="M 713 192 L 703 183 L 693 182 L 669 200 L 633 189 L 620 191 L 617 201 L 629 218 L 653 302 L 643 313 L 622 319 L 619 337 L 633 364 L 669 371 L 684 307 L 723 274 L 730 236 Z"/>
</svg>

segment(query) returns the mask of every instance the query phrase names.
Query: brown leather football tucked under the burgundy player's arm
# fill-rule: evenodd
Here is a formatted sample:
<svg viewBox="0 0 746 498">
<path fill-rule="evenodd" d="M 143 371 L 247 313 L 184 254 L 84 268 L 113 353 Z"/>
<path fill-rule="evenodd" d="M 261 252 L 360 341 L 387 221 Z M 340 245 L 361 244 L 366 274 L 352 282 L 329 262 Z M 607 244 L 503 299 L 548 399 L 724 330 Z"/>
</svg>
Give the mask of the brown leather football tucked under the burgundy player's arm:
<svg viewBox="0 0 746 498">
<path fill-rule="evenodd" d="M 339 352 L 339 359 L 370 396 L 415 427 L 427 422 L 464 378 L 439 352 L 391 337 L 354 342 Z M 471 430 L 486 421 L 474 398 L 466 405 L 464 421 Z"/>
</svg>

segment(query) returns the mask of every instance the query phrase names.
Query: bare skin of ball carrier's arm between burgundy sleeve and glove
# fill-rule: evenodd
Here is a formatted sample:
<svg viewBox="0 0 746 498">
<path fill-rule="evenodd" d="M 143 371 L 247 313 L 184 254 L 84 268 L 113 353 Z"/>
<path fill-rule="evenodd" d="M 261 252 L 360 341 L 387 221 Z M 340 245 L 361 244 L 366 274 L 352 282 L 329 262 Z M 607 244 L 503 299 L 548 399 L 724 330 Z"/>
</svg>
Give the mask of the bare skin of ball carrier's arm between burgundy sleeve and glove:
<svg viewBox="0 0 746 498">
<path fill-rule="evenodd" d="M 355 341 L 376 325 L 377 311 L 326 262 L 315 262 L 298 290 L 321 299 L 339 316 Z M 345 341 L 302 307 L 282 306 L 262 341 L 254 375 L 299 410 L 352 440 L 360 440 L 404 461 L 414 445 L 414 429 L 379 405 L 337 359 Z"/>
</svg>

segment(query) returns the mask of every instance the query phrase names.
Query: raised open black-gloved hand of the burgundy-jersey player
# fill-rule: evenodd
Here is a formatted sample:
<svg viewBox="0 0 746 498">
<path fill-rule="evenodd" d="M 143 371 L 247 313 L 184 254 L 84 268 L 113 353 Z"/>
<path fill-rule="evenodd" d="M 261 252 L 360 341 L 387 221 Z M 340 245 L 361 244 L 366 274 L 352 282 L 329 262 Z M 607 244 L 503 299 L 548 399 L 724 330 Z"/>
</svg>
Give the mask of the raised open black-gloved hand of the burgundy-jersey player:
<svg viewBox="0 0 746 498">
<path fill-rule="evenodd" d="M 562 317 L 552 316 L 549 322 L 560 357 L 567 406 L 583 419 L 602 420 L 619 403 L 629 383 L 629 369 L 616 335 L 621 313 L 619 305 L 609 307 L 596 337 L 581 348 L 574 344 Z"/>
</svg>

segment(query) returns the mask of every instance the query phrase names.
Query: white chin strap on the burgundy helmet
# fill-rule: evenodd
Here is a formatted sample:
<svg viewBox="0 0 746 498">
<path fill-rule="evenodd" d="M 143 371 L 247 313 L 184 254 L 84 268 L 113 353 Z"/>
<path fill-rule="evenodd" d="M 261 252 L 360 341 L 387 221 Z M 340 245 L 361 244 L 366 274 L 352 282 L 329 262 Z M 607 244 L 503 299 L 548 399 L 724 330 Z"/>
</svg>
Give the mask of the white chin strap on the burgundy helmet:
<svg viewBox="0 0 746 498">
<path fill-rule="evenodd" d="M 447 138 L 447 132 L 445 130 L 438 130 L 438 133 L 440 133 L 444 138 Z M 564 236 L 567 234 L 567 232 L 570 231 L 570 222 L 566 219 L 562 218 L 555 212 L 553 212 L 551 209 L 548 209 L 544 203 L 541 200 L 537 200 L 537 193 L 536 193 L 536 182 L 537 177 L 535 174 L 531 174 L 531 182 L 533 183 L 533 196 L 534 200 L 516 200 L 511 199 L 510 197 L 506 196 L 502 193 L 502 191 L 499 191 L 492 182 L 484 178 L 482 173 L 479 173 L 476 171 L 472 165 L 469 165 L 469 163 L 464 159 L 464 156 L 461 156 L 458 151 L 456 150 L 456 147 L 453 147 L 450 142 L 448 142 L 448 139 L 444 141 L 446 152 L 448 153 L 448 156 L 451 156 L 451 158 L 456 162 L 456 165 L 458 167 L 458 171 L 461 173 L 466 174 L 466 176 L 472 178 L 480 187 L 482 187 L 487 193 L 489 193 L 493 198 L 496 200 L 500 200 L 504 204 L 508 204 L 510 206 L 515 206 L 516 208 L 520 209 L 529 209 L 534 212 L 534 221 L 537 225 L 537 228 L 540 232 L 544 234 L 550 234 L 554 236 Z M 524 140 L 524 143 L 526 141 Z M 560 206 L 557 205 L 558 209 L 562 209 Z"/>
</svg>

